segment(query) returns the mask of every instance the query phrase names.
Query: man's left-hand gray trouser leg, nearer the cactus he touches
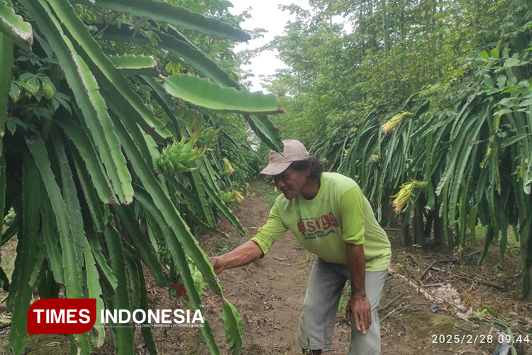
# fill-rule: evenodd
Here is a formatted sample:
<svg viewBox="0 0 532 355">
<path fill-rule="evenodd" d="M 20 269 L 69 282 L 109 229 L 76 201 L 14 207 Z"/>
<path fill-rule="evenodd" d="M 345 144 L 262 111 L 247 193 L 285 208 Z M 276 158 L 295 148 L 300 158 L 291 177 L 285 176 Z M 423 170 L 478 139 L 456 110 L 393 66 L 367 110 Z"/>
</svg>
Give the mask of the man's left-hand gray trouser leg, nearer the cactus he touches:
<svg viewBox="0 0 532 355">
<path fill-rule="evenodd" d="M 299 320 L 298 342 L 304 351 L 321 354 L 321 349 L 331 349 L 334 320 L 346 280 L 337 264 L 316 257 Z"/>
</svg>

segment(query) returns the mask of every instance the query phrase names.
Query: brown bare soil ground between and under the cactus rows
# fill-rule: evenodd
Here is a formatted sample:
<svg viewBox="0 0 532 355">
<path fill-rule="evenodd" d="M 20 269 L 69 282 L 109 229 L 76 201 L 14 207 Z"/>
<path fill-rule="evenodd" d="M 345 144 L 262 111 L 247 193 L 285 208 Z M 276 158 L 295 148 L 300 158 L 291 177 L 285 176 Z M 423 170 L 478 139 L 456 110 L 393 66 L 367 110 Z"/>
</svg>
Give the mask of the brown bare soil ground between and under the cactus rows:
<svg viewBox="0 0 532 355">
<path fill-rule="evenodd" d="M 230 251 L 256 233 L 270 210 L 261 193 L 265 188 L 263 182 L 251 184 L 240 211 L 235 212 L 248 236 L 240 236 L 231 224 L 220 219 L 218 229 L 226 232 L 228 238 L 211 233 L 199 236 L 206 253 Z M 517 354 L 532 355 L 532 336 L 525 338 L 520 332 L 532 331 L 532 305 L 518 299 L 519 253 L 506 256 L 500 266 L 492 268 L 498 257 L 498 248 L 494 247 L 487 263 L 477 266 L 480 246 L 468 247 L 457 257 L 438 247 L 428 251 L 404 248 L 399 231 L 387 233 L 392 241 L 392 268 L 379 305 L 382 354 L 506 354 L 495 351 L 499 337 L 495 329 L 506 330 L 507 324 L 515 336 L 521 334 Z M 421 275 L 435 260 L 433 268 Z M 314 256 L 287 232 L 265 258 L 219 275 L 226 299 L 235 305 L 243 320 L 241 354 L 301 354 L 297 345 L 299 317 L 313 263 Z M 146 276 L 152 309 L 185 307 L 183 300 L 170 300 L 168 290 Z M 438 306 L 436 312 L 431 311 L 429 300 Z M 202 301 L 221 352 L 228 354 L 220 317 L 221 300 L 209 293 Z M 477 310 L 485 307 L 496 317 L 489 313 L 477 315 Z M 337 315 L 333 349 L 324 351 L 325 355 L 348 352 L 350 327 L 343 320 L 343 312 L 340 310 Z M 8 334 L 9 327 L 0 329 L 0 354 L 10 354 Z M 159 354 L 208 354 L 198 329 L 154 328 L 153 334 Z M 135 332 L 134 341 L 135 354 L 148 354 L 140 332 Z M 111 343 L 107 339 L 98 353 L 114 354 Z M 27 337 L 25 344 L 26 354 L 68 354 L 69 349 L 64 336 Z"/>
</svg>

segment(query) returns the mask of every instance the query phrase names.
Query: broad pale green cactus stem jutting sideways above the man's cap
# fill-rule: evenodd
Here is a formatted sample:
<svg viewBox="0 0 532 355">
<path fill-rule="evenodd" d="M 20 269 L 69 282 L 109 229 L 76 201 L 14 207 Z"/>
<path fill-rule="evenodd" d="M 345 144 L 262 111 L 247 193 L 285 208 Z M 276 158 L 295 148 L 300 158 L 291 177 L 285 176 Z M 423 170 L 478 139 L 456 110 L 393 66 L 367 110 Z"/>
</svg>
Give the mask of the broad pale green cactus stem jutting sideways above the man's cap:
<svg viewBox="0 0 532 355">
<path fill-rule="evenodd" d="M 279 114 L 280 102 L 272 94 L 238 91 L 194 75 L 172 75 L 165 79 L 166 91 L 192 104 L 242 114 Z"/>
</svg>

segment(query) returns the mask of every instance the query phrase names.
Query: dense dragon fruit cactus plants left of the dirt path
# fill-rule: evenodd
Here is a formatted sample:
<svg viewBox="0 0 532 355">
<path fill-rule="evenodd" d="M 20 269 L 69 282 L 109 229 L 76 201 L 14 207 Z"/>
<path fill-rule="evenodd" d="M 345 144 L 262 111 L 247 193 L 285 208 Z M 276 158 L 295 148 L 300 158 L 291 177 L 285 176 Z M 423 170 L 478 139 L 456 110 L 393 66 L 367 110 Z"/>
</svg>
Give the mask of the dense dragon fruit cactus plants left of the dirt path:
<svg viewBox="0 0 532 355">
<path fill-rule="evenodd" d="M 1 244 L 18 239 L 13 274 L 0 270 L 0 279 L 15 354 L 34 290 L 96 298 L 97 315 L 146 309 L 143 268 L 161 286 L 182 283 L 196 310 L 211 288 L 239 353 L 240 316 L 194 234 L 219 233 L 220 215 L 244 233 L 228 206 L 237 200 L 223 197 L 240 196 L 256 174 L 248 127 L 282 148 L 265 116 L 280 109 L 233 74 L 233 44 L 223 38 L 250 36 L 228 1 L 200 2 L 0 2 L 0 209 L 11 216 Z M 112 329 L 118 354 L 133 354 L 133 329 Z M 105 330 L 98 320 L 77 334 L 78 354 L 104 344 Z M 142 333 L 155 354 L 150 329 Z M 219 354 L 209 322 L 201 333 Z"/>
</svg>

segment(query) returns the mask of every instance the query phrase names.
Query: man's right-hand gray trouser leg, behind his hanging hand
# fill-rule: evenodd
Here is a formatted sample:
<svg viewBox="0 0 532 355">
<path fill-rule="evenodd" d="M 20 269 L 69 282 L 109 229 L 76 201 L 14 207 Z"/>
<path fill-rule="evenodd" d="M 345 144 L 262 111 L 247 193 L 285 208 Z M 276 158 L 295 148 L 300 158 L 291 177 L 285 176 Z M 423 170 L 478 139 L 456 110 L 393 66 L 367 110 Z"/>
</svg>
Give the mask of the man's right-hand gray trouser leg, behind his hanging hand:
<svg viewBox="0 0 532 355">
<path fill-rule="evenodd" d="M 379 355 L 380 354 L 380 324 L 377 306 L 382 295 L 384 280 L 388 271 L 366 271 L 366 295 L 371 304 L 371 325 L 366 334 L 362 334 L 355 327 L 355 320 L 351 316 L 351 344 L 349 355 Z"/>
</svg>

